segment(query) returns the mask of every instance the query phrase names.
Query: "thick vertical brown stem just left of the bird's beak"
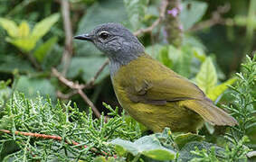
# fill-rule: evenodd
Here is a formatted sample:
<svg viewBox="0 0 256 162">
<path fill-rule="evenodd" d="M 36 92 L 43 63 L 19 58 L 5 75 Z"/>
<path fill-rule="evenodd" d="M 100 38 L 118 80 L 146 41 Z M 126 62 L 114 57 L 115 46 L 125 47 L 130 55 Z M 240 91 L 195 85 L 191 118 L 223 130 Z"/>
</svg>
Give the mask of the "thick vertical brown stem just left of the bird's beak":
<svg viewBox="0 0 256 162">
<path fill-rule="evenodd" d="M 62 0 L 62 18 L 65 31 L 65 49 L 62 55 L 62 75 L 65 76 L 71 63 L 72 56 L 72 29 L 71 29 L 71 16 L 70 4 L 68 0 Z"/>
</svg>

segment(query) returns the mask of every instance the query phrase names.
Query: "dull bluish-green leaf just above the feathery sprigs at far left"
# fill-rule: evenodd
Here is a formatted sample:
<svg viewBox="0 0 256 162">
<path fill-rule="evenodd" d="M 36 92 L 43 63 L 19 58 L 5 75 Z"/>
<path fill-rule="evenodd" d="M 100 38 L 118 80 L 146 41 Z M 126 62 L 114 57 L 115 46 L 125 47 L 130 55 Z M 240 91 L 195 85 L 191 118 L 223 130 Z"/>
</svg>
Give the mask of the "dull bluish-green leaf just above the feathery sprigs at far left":
<svg viewBox="0 0 256 162">
<path fill-rule="evenodd" d="M 35 97 L 40 93 L 44 96 L 49 94 L 53 100 L 56 98 L 55 87 L 46 78 L 20 76 L 16 89 L 29 97 Z"/>
</svg>

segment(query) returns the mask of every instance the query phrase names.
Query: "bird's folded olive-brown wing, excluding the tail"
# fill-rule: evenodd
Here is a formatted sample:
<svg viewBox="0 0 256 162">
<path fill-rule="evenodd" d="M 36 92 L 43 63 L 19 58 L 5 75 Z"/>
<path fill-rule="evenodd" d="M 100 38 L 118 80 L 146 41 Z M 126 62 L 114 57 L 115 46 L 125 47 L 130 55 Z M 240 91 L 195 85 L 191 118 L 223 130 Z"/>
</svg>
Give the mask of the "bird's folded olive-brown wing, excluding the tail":
<svg viewBox="0 0 256 162">
<path fill-rule="evenodd" d="M 177 75 L 170 75 L 164 79 L 134 79 L 127 87 L 127 92 L 131 101 L 140 103 L 165 104 L 205 98 L 197 85 Z"/>
</svg>

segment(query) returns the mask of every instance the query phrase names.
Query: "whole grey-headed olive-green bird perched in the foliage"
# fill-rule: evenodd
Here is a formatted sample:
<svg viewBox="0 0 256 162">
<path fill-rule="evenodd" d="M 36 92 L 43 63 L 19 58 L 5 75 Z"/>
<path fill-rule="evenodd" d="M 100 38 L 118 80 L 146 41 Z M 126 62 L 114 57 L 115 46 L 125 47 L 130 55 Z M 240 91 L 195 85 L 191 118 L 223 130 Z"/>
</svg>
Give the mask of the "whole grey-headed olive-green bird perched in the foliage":
<svg viewBox="0 0 256 162">
<path fill-rule="evenodd" d="M 92 42 L 109 58 L 109 71 L 122 108 L 149 130 L 198 132 L 207 121 L 234 126 L 237 121 L 187 78 L 151 58 L 137 37 L 120 23 L 102 23 L 74 37 Z"/>
</svg>

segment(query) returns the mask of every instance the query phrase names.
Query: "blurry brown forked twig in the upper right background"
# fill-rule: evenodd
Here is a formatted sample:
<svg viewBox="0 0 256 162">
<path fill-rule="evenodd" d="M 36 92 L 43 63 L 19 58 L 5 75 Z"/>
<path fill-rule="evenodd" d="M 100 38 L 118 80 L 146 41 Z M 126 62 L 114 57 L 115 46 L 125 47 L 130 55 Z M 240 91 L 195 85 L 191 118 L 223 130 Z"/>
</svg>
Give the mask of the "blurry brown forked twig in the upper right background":
<svg viewBox="0 0 256 162">
<path fill-rule="evenodd" d="M 210 28 L 215 24 L 225 24 L 227 21 L 223 19 L 222 14 L 227 13 L 230 8 L 230 4 L 219 6 L 217 10 L 213 12 L 211 19 L 195 24 L 189 31 L 200 31 L 205 28 Z"/>
</svg>

